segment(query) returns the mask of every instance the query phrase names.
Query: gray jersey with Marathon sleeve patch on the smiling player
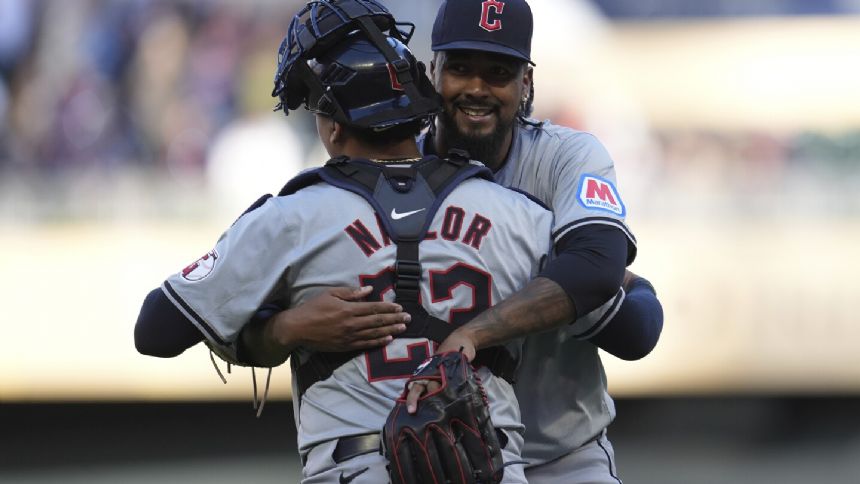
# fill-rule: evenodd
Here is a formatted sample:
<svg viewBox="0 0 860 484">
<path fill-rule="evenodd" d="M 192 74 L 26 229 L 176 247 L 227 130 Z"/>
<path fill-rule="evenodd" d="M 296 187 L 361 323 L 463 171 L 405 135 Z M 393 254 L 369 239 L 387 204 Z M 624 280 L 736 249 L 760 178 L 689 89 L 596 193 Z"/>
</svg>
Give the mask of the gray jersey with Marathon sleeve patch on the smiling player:
<svg viewBox="0 0 860 484">
<path fill-rule="evenodd" d="M 419 140 L 424 147 L 426 139 Z M 530 193 L 553 211 L 553 242 L 588 224 L 624 223 L 612 158 L 589 133 L 550 122 L 517 121 L 513 142 L 496 181 Z M 615 417 L 597 347 L 585 341 L 614 315 L 623 291 L 560 331 L 526 338 L 518 370 L 526 444 L 523 457 L 537 465 L 579 448 Z"/>
</svg>

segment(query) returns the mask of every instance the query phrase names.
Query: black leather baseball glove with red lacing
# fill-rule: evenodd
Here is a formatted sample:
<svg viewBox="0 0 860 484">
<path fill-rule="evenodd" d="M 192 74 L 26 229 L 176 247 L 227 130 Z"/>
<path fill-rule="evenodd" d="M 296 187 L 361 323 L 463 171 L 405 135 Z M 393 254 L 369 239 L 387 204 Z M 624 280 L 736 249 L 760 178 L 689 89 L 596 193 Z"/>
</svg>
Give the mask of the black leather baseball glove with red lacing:
<svg viewBox="0 0 860 484">
<path fill-rule="evenodd" d="M 436 380 L 442 386 L 406 411 L 407 390 L 383 429 L 392 484 L 486 484 L 502 480 L 499 437 L 490 420 L 487 395 L 460 352 L 428 359 L 409 381 Z"/>
</svg>

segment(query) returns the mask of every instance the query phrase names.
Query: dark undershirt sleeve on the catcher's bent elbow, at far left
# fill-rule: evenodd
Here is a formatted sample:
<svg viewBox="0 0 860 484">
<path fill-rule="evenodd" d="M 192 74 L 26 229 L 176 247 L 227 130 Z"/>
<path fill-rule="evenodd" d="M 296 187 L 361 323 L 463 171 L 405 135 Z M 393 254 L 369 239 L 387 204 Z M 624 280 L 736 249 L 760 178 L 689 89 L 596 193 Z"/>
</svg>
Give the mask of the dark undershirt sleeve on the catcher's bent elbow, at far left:
<svg viewBox="0 0 860 484">
<path fill-rule="evenodd" d="M 203 340 L 203 334 L 167 299 L 161 288 L 143 301 L 134 325 L 134 346 L 144 355 L 171 358 Z"/>
</svg>

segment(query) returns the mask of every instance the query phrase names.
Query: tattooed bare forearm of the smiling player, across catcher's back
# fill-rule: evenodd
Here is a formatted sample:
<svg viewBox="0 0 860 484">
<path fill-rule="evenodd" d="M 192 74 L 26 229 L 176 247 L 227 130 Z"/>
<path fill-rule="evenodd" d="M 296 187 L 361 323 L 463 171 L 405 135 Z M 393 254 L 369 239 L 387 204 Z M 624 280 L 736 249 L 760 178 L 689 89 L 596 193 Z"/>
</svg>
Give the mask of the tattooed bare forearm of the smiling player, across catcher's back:
<svg viewBox="0 0 860 484">
<path fill-rule="evenodd" d="M 576 308 L 564 289 L 538 277 L 461 329 L 471 333 L 477 349 L 481 349 L 553 329 L 574 319 Z"/>
</svg>

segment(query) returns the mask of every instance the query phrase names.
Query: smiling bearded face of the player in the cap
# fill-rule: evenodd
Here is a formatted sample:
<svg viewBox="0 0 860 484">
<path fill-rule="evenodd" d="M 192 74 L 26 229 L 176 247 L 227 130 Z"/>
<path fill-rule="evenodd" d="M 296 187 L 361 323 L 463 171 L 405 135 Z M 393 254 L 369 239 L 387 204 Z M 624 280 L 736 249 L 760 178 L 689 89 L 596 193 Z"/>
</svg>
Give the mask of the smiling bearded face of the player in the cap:
<svg viewBox="0 0 860 484">
<path fill-rule="evenodd" d="M 443 106 L 437 148 L 465 149 L 472 158 L 498 168 L 510 148 L 520 103 L 529 92 L 531 68 L 506 55 L 451 50 L 437 52 L 431 70 Z"/>
</svg>

